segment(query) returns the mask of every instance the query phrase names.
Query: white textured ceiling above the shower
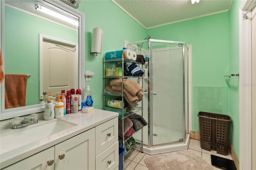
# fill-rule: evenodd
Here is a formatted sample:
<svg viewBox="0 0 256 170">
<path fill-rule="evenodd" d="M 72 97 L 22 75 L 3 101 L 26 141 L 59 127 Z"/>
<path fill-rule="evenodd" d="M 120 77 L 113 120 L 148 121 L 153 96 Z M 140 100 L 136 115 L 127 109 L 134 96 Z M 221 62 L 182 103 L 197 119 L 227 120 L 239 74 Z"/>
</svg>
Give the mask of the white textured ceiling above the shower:
<svg viewBox="0 0 256 170">
<path fill-rule="evenodd" d="M 144 28 L 227 12 L 232 0 L 112 0 Z"/>
</svg>

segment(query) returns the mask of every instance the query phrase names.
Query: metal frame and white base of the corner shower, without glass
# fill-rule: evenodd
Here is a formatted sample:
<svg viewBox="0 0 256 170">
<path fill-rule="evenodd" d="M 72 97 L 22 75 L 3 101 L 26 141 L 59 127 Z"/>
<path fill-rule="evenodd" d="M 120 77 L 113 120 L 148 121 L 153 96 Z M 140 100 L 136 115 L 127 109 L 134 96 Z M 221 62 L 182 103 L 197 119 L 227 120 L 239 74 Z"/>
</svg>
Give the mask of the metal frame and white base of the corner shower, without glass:
<svg viewBox="0 0 256 170">
<path fill-rule="evenodd" d="M 153 106 L 151 105 L 151 100 L 153 98 L 153 91 L 152 91 L 152 67 L 153 67 L 153 63 L 150 62 L 152 61 L 152 43 L 173 43 L 173 44 L 178 44 L 179 47 L 182 46 L 182 63 L 183 63 L 183 112 L 182 112 L 182 121 L 183 121 L 183 128 L 182 128 L 182 141 L 176 141 L 176 142 L 168 142 L 168 143 L 164 143 L 164 144 L 153 144 L 152 143 L 152 123 L 153 123 L 153 116 L 151 116 L 151 114 L 153 114 Z M 188 148 L 188 143 L 189 143 L 189 132 L 188 132 L 188 128 L 189 128 L 189 121 L 188 121 L 188 84 L 185 85 L 185 82 L 188 83 L 188 68 L 184 68 L 184 67 L 188 67 L 188 61 L 186 61 L 187 65 L 184 62 L 184 56 L 185 56 L 185 50 L 187 50 L 187 60 L 188 60 L 188 46 L 185 44 L 185 42 L 177 42 L 177 41 L 167 41 L 167 40 L 155 40 L 155 39 L 147 39 L 147 40 L 142 40 L 142 41 L 138 41 L 138 42 L 130 42 L 128 43 L 128 45 L 137 45 L 138 49 L 140 50 L 140 53 L 142 52 L 142 47 L 143 47 L 143 43 L 148 43 L 147 46 L 147 53 L 148 53 L 148 73 L 149 73 L 149 86 L 148 86 L 148 144 L 143 144 L 144 148 L 144 152 L 147 154 L 159 154 L 159 153 L 164 153 L 164 152 L 171 152 L 171 151 L 175 151 L 175 150 L 181 150 L 181 149 L 187 149 Z M 187 71 L 185 73 L 185 71 Z M 185 94 L 185 88 L 187 93 Z M 187 101 L 185 101 L 187 100 Z"/>
</svg>

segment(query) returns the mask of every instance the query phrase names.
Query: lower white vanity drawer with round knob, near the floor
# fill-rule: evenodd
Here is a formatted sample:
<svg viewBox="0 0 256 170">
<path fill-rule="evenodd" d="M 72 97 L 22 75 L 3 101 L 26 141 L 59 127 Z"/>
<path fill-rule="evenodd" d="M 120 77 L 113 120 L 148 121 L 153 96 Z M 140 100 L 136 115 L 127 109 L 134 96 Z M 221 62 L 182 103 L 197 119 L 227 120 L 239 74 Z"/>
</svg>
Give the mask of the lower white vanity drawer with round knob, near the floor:
<svg viewBox="0 0 256 170">
<path fill-rule="evenodd" d="M 114 170 L 119 164 L 119 144 L 114 143 L 96 157 L 96 170 Z"/>
</svg>

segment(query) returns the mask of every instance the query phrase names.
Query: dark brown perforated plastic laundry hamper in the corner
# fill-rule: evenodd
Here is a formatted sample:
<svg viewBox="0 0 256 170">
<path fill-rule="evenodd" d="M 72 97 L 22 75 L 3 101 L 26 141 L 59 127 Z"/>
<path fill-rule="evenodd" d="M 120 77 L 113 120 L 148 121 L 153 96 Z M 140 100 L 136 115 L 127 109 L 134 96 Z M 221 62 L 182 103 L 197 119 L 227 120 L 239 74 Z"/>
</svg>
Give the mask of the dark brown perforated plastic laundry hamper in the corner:
<svg viewBox="0 0 256 170">
<path fill-rule="evenodd" d="M 231 119 L 228 115 L 199 112 L 200 146 L 227 155 Z"/>
</svg>

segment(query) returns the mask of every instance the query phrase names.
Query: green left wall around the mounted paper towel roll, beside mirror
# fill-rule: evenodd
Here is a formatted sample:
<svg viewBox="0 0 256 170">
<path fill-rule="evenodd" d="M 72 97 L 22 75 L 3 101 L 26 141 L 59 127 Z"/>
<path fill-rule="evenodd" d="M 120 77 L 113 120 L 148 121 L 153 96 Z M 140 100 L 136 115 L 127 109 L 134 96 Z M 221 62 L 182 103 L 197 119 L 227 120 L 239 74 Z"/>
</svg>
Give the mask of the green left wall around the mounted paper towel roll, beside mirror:
<svg viewBox="0 0 256 170">
<path fill-rule="evenodd" d="M 78 10 L 85 16 L 85 70 L 95 73 L 91 81 L 85 81 L 85 85 L 90 85 L 93 106 L 103 109 L 104 53 L 123 49 L 124 39 L 144 40 L 146 30 L 109 0 L 84 0 Z M 103 32 L 102 53 L 92 57 L 92 29 L 96 27 Z"/>
</svg>

